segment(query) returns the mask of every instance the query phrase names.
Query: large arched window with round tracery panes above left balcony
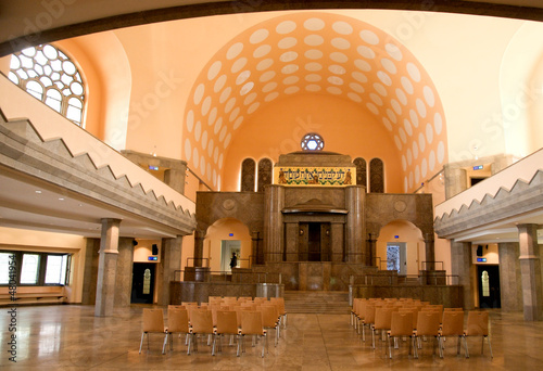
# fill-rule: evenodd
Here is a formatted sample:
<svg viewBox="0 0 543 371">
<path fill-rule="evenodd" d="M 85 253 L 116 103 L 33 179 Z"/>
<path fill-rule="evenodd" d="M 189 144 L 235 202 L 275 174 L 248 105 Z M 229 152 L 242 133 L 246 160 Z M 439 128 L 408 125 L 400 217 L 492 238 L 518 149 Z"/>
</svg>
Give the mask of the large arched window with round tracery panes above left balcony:
<svg viewBox="0 0 543 371">
<path fill-rule="evenodd" d="M 75 63 L 61 50 L 46 43 L 26 48 L 11 56 L 11 81 L 81 126 L 85 84 Z"/>
</svg>

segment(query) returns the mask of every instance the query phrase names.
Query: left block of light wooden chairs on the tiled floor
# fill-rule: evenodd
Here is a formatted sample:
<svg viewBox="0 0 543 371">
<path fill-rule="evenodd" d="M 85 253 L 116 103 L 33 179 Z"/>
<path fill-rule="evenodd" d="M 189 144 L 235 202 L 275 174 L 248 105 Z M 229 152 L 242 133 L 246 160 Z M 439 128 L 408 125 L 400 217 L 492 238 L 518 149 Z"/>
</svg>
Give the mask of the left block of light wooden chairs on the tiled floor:
<svg viewBox="0 0 543 371">
<path fill-rule="evenodd" d="M 265 299 L 265 298 L 264 298 Z M 211 302 L 210 302 L 211 303 Z M 140 342 L 140 353 L 143 338 L 149 334 L 164 334 L 162 353 L 166 351 L 166 344 L 169 338 L 169 347 L 173 350 L 174 334 L 186 335 L 187 354 L 191 354 L 191 347 L 198 351 L 198 336 L 206 335 L 207 344 L 212 345 L 212 355 L 215 355 L 218 338 L 218 351 L 223 349 L 224 335 L 230 335 L 230 344 L 237 337 L 237 355 L 245 351 L 244 337 L 253 336 L 255 340 L 264 338 L 262 346 L 262 357 L 267 350 L 267 330 L 276 331 L 275 345 L 280 337 L 281 319 L 286 318 L 285 302 L 282 298 L 272 298 L 270 300 L 243 300 L 243 303 L 198 304 L 182 303 L 180 306 L 168 306 L 168 327 L 164 325 L 164 312 L 162 309 L 143 309 L 142 333 Z M 282 308 L 282 310 L 281 310 Z"/>
</svg>

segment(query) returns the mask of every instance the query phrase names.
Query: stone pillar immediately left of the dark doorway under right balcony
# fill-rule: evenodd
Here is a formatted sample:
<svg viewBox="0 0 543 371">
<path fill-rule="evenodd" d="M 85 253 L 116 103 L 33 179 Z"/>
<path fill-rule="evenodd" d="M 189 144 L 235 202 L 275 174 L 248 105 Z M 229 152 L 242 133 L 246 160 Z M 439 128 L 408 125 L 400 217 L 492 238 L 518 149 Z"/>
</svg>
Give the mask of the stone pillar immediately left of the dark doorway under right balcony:
<svg viewBox="0 0 543 371">
<path fill-rule="evenodd" d="M 458 284 L 463 286 L 464 309 L 473 309 L 471 243 L 451 241 L 451 270 L 458 276 Z"/>
</svg>

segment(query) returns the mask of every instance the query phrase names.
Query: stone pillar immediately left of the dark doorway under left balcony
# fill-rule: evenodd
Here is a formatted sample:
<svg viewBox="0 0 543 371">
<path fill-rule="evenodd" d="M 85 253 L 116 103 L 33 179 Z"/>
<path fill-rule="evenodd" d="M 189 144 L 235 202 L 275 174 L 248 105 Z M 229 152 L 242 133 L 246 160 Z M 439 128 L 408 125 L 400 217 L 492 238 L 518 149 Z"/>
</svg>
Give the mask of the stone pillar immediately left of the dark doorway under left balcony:
<svg viewBox="0 0 543 371">
<path fill-rule="evenodd" d="M 134 239 L 118 239 L 115 307 L 129 307 L 132 291 Z"/>
</svg>

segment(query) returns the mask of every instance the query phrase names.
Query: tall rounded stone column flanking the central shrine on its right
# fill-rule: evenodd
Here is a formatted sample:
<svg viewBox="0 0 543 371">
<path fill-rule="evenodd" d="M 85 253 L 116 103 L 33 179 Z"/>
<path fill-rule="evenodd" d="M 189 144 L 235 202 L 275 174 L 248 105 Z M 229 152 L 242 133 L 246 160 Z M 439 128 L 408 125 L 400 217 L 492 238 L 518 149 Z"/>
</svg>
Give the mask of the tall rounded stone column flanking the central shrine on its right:
<svg viewBox="0 0 543 371">
<path fill-rule="evenodd" d="M 345 189 L 346 215 L 345 250 L 346 260 L 350 263 L 363 263 L 366 260 L 364 252 L 364 199 L 366 188 L 352 186 Z"/>
</svg>

